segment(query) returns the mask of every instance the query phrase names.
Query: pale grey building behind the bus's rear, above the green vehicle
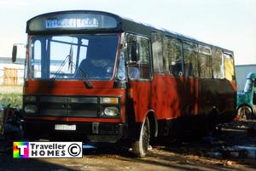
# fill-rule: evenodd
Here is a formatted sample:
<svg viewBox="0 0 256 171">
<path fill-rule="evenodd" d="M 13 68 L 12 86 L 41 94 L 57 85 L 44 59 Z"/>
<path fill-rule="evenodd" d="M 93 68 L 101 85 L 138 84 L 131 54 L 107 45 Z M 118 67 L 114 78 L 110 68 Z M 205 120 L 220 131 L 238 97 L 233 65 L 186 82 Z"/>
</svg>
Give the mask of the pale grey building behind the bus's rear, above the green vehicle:
<svg viewBox="0 0 256 171">
<path fill-rule="evenodd" d="M 256 72 L 256 64 L 236 66 L 236 83 L 238 90 L 243 90 L 247 74 L 251 71 Z"/>
</svg>

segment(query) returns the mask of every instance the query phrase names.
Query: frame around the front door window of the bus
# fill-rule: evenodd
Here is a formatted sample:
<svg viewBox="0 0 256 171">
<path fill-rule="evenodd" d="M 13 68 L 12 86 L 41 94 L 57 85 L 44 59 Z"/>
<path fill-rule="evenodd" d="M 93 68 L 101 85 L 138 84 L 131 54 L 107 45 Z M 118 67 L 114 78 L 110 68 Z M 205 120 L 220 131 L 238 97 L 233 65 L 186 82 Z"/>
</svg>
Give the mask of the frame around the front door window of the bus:
<svg viewBox="0 0 256 171">
<path fill-rule="evenodd" d="M 150 74 L 150 77 L 149 78 L 131 78 L 129 77 L 129 73 L 128 73 L 128 68 L 129 68 L 129 65 L 136 65 L 137 64 L 137 61 L 130 61 L 129 59 L 129 56 L 128 56 L 128 42 L 127 42 L 127 37 L 129 35 L 132 35 L 132 36 L 135 36 L 135 37 L 139 37 L 139 38 L 144 38 L 144 39 L 147 39 L 148 40 L 148 45 L 149 45 L 149 74 Z M 125 48 L 124 48 L 124 51 L 125 51 L 125 71 L 126 71 L 126 77 L 128 80 L 131 80 L 132 82 L 152 82 L 153 80 L 153 77 L 154 77 L 154 71 L 153 71 L 153 57 L 152 57 L 152 43 L 151 43 L 151 38 L 148 37 L 148 36 L 145 36 L 143 34 L 138 34 L 138 33 L 135 33 L 135 32 L 131 32 L 131 31 L 125 31 Z M 138 59 L 137 59 L 138 60 Z"/>
</svg>

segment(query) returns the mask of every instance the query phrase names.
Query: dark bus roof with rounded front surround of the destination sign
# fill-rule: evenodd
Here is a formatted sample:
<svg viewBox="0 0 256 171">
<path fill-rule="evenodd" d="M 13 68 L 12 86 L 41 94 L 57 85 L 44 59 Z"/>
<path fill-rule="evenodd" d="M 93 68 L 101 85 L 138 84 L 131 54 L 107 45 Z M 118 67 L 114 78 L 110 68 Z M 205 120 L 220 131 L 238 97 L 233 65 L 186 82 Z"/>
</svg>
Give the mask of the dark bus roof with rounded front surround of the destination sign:
<svg viewBox="0 0 256 171">
<path fill-rule="evenodd" d="M 50 30 L 42 29 L 41 27 L 40 27 L 41 30 L 32 30 L 31 29 L 32 25 L 36 26 L 37 28 L 38 28 L 38 25 L 43 26 L 43 19 L 45 22 L 46 19 L 52 20 L 53 18 L 55 19 L 56 17 L 62 15 L 61 20 L 63 20 L 63 16 L 65 14 L 70 14 L 72 17 L 69 19 L 71 19 L 71 20 L 73 20 L 74 14 L 98 14 L 98 15 L 107 16 L 109 18 L 114 19 L 116 22 L 115 23 L 116 25 L 114 25 L 113 27 L 111 27 L 111 26 L 107 27 L 107 25 L 106 25 L 106 26 L 102 26 L 101 28 L 96 28 L 96 29 L 91 29 L 91 28 L 94 28 L 93 26 L 90 26 L 90 27 L 88 26 L 86 28 L 83 27 L 83 28 L 78 28 L 78 29 L 67 28 L 67 27 L 61 28 L 61 29 L 56 29 L 57 28 L 56 26 L 53 26 L 54 29 L 51 28 Z M 53 21 L 53 22 L 56 23 L 57 21 Z M 114 23 L 114 22 L 112 22 L 112 23 Z M 127 32 L 131 32 L 131 33 L 140 34 L 145 37 L 150 37 L 151 33 L 156 31 L 156 32 L 160 32 L 166 36 L 169 36 L 169 37 L 177 37 L 178 39 L 181 39 L 183 41 L 189 41 L 192 43 L 199 43 L 199 44 L 205 45 L 205 46 L 220 48 L 220 47 L 212 45 L 210 43 L 203 43 L 201 41 L 198 41 L 193 37 L 184 36 L 183 34 L 180 34 L 180 33 L 174 32 L 174 31 L 157 28 L 157 27 L 145 24 L 145 23 L 140 23 L 135 20 L 121 17 L 117 14 L 112 14 L 112 13 L 108 13 L 108 12 L 104 12 L 104 11 L 95 11 L 95 10 L 58 11 L 58 12 L 53 12 L 53 13 L 40 14 L 38 16 L 33 17 L 31 20 L 28 20 L 26 23 L 26 32 L 28 34 L 52 34 L 52 33 L 56 33 L 56 32 L 60 32 L 60 34 L 63 34 L 63 33 L 71 33 L 73 31 L 76 31 L 78 33 L 84 33 L 85 31 L 87 31 L 87 32 L 99 32 L 99 31 L 123 32 L 123 31 L 127 31 Z M 233 52 L 228 49 L 225 49 L 225 48 L 221 48 L 221 49 L 226 53 L 233 54 Z"/>
</svg>

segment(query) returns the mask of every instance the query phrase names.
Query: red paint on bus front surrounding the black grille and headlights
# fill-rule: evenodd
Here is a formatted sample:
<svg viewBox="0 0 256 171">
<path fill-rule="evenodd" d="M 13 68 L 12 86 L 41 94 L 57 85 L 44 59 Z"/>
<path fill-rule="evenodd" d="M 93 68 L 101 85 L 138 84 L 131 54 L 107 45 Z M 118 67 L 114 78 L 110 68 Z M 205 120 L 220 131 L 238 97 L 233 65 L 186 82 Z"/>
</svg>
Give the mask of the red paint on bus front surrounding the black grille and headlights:
<svg viewBox="0 0 256 171">
<path fill-rule="evenodd" d="M 67 117 L 67 121 L 78 122 L 107 122 L 125 123 L 125 89 L 113 88 L 113 81 L 109 82 L 92 82 L 95 88 L 86 88 L 83 82 L 78 81 L 55 81 L 54 85 L 47 87 L 48 83 L 44 81 L 28 81 L 27 87 L 24 88 L 24 94 L 44 94 L 44 95 L 81 95 L 81 96 L 119 96 L 121 98 L 121 118 L 120 119 L 97 119 L 81 117 Z M 112 86 L 111 86 L 112 85 Z M 27 117 L 30 119 L 31 117 Z M 33 117 L 34 119 L 35 117 Z M 38 117 L 49 120 L 50 117 Z M 63 117 L 65 118 L 65 117 Z M 61 119 L 61 118 L 60 118 Z M 73 120 L 75 119 L 75 120 Z"/>
</svg>

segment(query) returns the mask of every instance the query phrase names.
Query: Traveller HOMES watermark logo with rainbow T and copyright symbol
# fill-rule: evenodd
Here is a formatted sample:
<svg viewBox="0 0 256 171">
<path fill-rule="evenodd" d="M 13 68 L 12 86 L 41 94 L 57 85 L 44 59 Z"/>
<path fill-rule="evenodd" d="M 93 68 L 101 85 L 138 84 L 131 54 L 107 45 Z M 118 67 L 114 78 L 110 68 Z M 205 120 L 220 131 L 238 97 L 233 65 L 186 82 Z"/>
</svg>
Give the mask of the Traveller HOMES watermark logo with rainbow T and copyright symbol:
<svg viewBox="0 0 256 171">
<path fill-rule="evenodd" d="M 14 158 L 81 158 L 82 142 L 14 142 Z"/>
</svg>

